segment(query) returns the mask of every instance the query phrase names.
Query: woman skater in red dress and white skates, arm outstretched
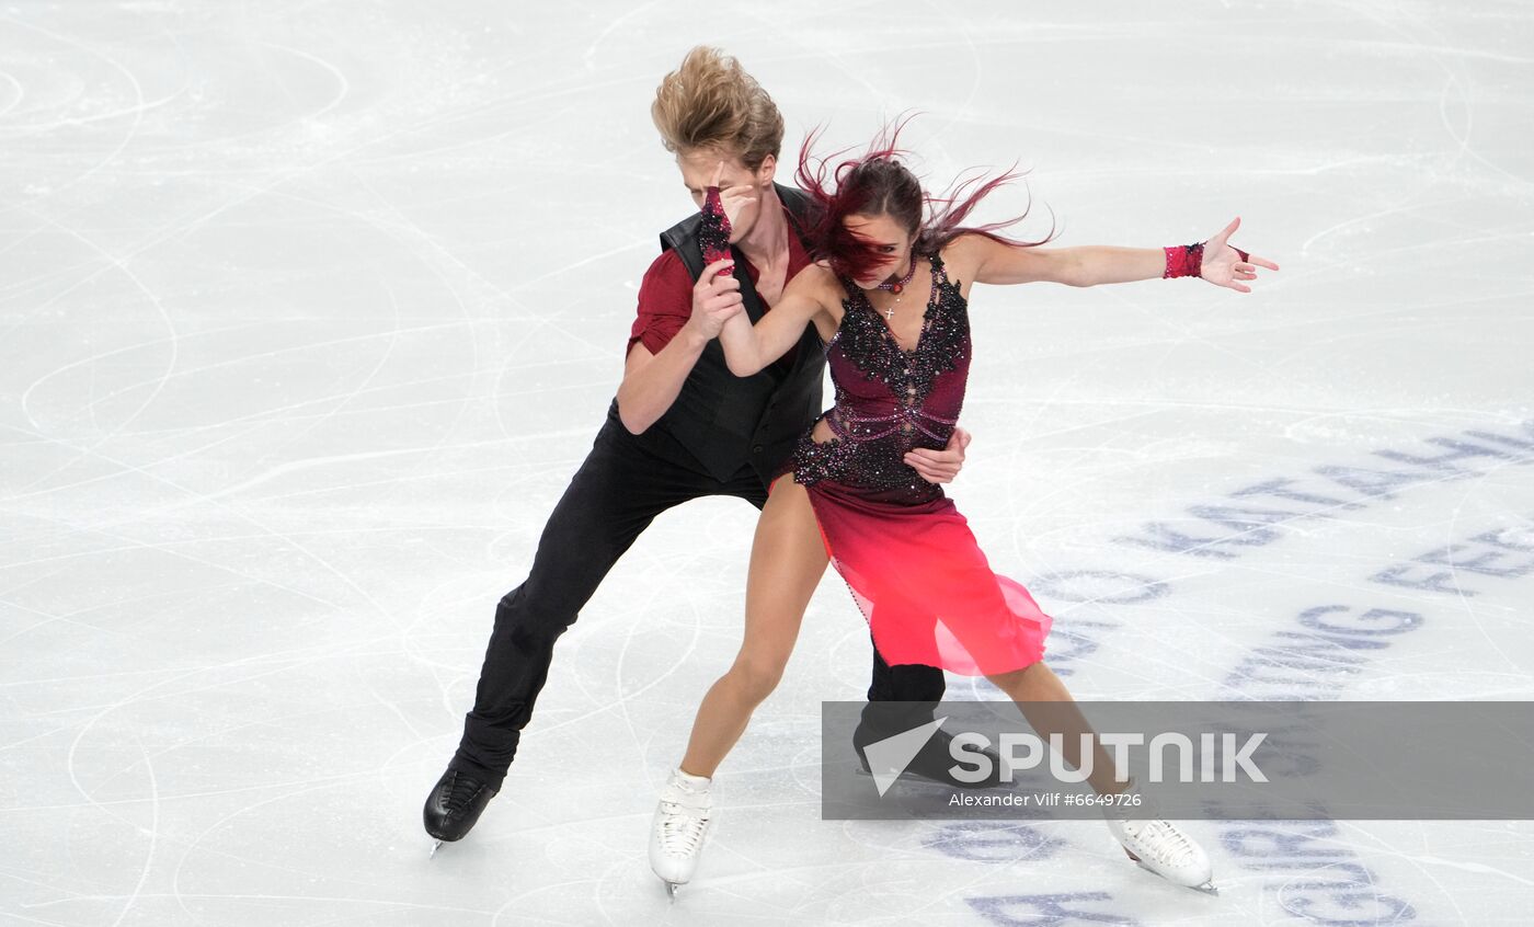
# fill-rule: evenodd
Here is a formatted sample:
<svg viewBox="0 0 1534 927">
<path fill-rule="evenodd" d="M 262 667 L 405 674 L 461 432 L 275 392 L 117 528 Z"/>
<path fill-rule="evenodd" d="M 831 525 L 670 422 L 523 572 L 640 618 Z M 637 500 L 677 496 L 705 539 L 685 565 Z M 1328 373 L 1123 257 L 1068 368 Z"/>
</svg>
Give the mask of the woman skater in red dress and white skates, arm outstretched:
<svg viewBox="0 0 1534 927">
<path fill-rule="evenodd" d="M 804 434 L 792 470 L 770 488 L 752 546 L 741 651 L 698 708 L 687 754 L 655 812 L 650 866 L 673 895 L 698 863 L 713 772 L 778 685 L 827 559 L 847 580 L 891 666 L 925 663 L 985 675 L 1019 703 L 1040 737 L 1063 735 L 1065 760 L 1081 766 L 1078 735 L 1091 727 L 1042 660 L 1049 615 L 1023 586 L 991 571 L 942 487 L 902 462 L 913 447 L 943 447 L 959 417 L 971 356 L 971 285 L 1089 287 L 1203 276 L 1249 293 L 1244 281 L 1255 279 L 1258 267 L 1278 270 L 1227 244 L 1239 218 L 1206 242 L 1169 249 L 1045 250 L 1037 247 L 1043 242 L 999 233 L 1022 216 L 966 229 L 962 223 L 974 206 L 1014 175 L 979 184 L 968 196 L 971 184 L 951 198 L 933 198 L 896 160 L 897 137 L 899 126 L 831 176 L 827 160 L 810 167 L 815 137 L 805 140 L 798 181 L 821 207 L 811 232 L 819 262 L 801 272 L 755 327 L 739 307 L 719 313 L 727 316 L 719 339 L 738 376 L 773 362 L 813 324 L 825 344 L 836 404 Z M 744 189 L 710 189 L 704 224 L 712 235 L 727 236 L 729 213 L 747 203 L 744 195 Z M 727 267 L 727 259 L 712 261 L 706 273 Z M 1034 703 L 1055 704 L 1046 712 Z M 1092 749 L 1089 784 L 1098 793 L 1124 792 L 1112 760 L 1100 746 Z M 1170 823 L 1146 816 L 1108 824 L 1150 872 L 1213 892 L 1209 858 Z"/>
</svg>

